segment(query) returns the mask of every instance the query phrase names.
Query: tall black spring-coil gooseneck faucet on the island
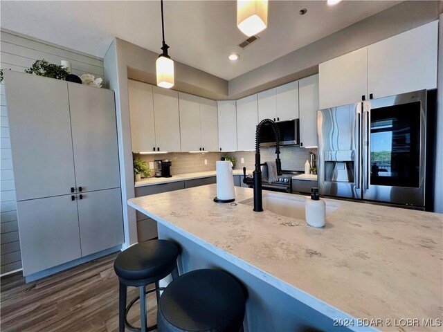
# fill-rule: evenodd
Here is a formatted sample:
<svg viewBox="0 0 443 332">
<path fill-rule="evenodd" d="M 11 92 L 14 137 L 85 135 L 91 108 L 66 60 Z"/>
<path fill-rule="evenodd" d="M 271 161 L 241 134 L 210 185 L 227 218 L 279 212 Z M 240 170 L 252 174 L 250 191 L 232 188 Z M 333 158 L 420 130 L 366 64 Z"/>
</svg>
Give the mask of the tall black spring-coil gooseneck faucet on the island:
<svg viewBox="0 0 443 332">
<path fill-rule="evenodd" d="M 246 185 L 253 185 L 254 187 L 254 211 L 263 211 L 263 199 L 262 199 L 262 169 L 260 166 L 260 138 L 262 128 L 266 125 L 270 125 L 273 129 L 275 136 L 275 164 L 277 165 L 277 174 L 282 174 L 282 163 L 280 162 L 280 131 L 278 131 L 277 124 L 271 119 L 264 119 L 257 124 L 257 129 L 255 129 L 255 169 L 253 172 L 253 178 L 246 177 L 246 167 L 243 167 L 243 183 Z"/>
</svg>

